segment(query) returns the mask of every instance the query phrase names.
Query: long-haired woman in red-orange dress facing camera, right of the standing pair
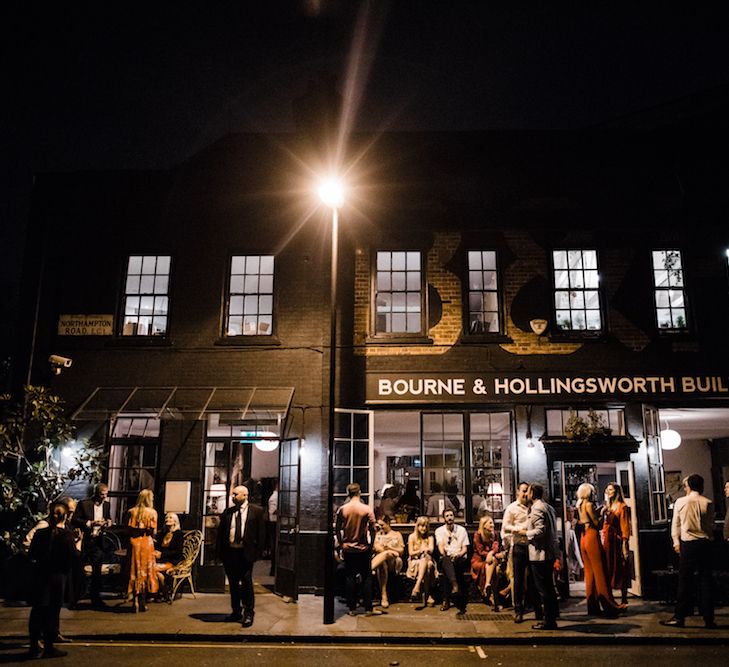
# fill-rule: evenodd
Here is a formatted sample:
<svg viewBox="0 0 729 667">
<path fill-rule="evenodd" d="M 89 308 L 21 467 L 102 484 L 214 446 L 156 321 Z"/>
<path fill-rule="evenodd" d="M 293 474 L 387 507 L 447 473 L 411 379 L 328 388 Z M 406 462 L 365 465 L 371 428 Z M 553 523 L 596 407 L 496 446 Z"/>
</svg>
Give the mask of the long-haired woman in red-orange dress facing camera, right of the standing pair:
<svg viewBox="0 0 729 667">
<path fill-rule="evenodd" d="M 628 604 L 628 587 L 631 572 L 628 560 L 630 539 L 630 508 L 625 504 L 623 489 L 617 482 L 608 484 L 605 490 L 607 500 L 603 510 L 603 524 L 600 537 L 605 550 L 608 583 L 620 590 L 621 602 Z"/>
</svg>

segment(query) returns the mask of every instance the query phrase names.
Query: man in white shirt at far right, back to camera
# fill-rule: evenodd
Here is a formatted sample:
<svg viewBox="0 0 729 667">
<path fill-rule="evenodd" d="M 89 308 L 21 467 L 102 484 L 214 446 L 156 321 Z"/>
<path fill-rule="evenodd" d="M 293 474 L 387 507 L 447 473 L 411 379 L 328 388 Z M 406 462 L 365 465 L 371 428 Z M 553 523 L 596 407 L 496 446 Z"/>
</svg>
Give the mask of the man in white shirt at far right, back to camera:
<svg viewBox="0 0 729 667">
<path fill-rule="evenodd" d="M 693 593 L 696 588 L 694 573 L 698 573 L 700 607 L 707 628 L 715 628 L 713 580 L 711 573 L 711 542 L 714 539 L 714 504 L 701 494 L 704 478 L 689 475 L 683 481 L 686 495 L 673 506 L 671 538 L 673 549 L 679 554 L 678 594 L 673 617 L 661 625 L 682 628 L 685 619 L 694 610 Z"/>
</svg>

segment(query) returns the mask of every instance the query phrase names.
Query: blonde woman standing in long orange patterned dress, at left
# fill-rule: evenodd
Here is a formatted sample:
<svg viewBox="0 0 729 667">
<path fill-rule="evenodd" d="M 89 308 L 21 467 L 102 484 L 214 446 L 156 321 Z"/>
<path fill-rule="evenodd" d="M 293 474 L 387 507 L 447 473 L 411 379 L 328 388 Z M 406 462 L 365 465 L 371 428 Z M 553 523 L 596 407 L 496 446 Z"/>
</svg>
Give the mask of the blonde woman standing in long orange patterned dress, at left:
<svg viewBox="0 0 729 667">
<path fill-rule="evenodd" d="M 147 594 L 159 590 L 153 535 L 157 532 L 154 494 L 149 489 L 139 492 L 137 504 L 129 510 L 129 587 L 134 611 L 147 611 Z"/>
</svg>

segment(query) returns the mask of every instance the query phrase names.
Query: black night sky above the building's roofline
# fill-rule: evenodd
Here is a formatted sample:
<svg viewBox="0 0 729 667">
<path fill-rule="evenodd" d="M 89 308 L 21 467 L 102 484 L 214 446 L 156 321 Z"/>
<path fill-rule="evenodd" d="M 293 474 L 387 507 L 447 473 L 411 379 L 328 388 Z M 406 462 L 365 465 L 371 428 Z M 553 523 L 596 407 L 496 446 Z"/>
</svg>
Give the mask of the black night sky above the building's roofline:
<svg viewBox="0 0 729 667">
<path fill-rule="evenodd" d="M 356 129 L 586 127 L 726 85 L 719 4 L 11 0 L 0 285 L 33 173 L 164 168 L 229 132 L 291 130 L 309 78 L 344 91 L 353 51 Z"/>
</svg>

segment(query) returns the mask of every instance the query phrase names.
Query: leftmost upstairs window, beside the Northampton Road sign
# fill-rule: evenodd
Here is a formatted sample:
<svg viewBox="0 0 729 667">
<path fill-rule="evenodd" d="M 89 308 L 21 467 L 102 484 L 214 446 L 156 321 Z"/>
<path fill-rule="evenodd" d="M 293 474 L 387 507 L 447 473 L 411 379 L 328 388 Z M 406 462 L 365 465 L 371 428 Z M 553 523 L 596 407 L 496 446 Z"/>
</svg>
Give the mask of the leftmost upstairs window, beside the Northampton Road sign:
<svg viewBox="0 0 729 667">
<path fill-rule="evenodd" d="M 168 255 L 132 255 L 124 289 L 123 336 L 165 336 L 169 311 Z"/>
</svg>

